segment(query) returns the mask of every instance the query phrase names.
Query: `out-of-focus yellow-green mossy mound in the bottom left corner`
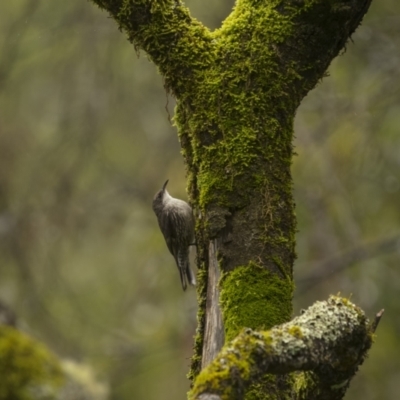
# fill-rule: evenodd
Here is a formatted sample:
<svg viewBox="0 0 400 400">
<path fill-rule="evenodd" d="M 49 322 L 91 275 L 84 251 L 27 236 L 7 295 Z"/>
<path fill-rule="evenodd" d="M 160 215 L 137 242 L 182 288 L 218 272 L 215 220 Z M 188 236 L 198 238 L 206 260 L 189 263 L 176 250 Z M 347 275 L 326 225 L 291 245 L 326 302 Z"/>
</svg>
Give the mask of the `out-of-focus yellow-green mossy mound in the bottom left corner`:
<svg viewBox="0 0 400 400">
<path fill-rule="evenodd" d="M 42 344 L 0 326 L 0 400 L 53 399 L 63 381 L 57 359 Z"/>
</svg>

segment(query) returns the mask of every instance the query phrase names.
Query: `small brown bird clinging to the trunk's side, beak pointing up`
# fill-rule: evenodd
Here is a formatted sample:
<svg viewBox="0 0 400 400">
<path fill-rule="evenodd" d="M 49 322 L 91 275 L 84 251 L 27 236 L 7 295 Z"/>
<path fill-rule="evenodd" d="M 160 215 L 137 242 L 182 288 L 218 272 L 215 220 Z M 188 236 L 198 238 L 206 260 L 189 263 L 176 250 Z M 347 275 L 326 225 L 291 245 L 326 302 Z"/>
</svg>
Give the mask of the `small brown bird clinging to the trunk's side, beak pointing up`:
<svg viewBox="0 0 400 400">
<path fill-rule="evenodd" d="M 194 216 L 186 201 L 172 197 L 167 191 L 167 180 L 153 199 L 153 211 L 167 243 L 174 256 L 181 278 L 182 289 L 187 284 L 196 285 L 196 279 L 189 263 L 189 247 L 194 244 Z"/>
</svg>

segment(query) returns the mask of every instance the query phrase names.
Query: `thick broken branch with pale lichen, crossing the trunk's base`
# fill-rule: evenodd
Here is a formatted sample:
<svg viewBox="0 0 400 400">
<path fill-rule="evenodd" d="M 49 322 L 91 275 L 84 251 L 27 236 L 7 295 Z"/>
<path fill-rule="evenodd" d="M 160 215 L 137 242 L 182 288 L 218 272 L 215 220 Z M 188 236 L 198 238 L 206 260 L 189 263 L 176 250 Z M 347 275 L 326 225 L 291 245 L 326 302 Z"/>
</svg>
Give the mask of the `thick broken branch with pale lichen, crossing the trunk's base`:
<svg viewBox="0 0 400 400">
<path fill-rule="evenodd" d="M 297 399 L 341 399 L 374 326 L 350 301 L 332 296 L 270 331 L 246 329 L 200 373 L 190 398 L 238 399 L 265 374 L 309 371 L 296 376 Z"/>
</svg>

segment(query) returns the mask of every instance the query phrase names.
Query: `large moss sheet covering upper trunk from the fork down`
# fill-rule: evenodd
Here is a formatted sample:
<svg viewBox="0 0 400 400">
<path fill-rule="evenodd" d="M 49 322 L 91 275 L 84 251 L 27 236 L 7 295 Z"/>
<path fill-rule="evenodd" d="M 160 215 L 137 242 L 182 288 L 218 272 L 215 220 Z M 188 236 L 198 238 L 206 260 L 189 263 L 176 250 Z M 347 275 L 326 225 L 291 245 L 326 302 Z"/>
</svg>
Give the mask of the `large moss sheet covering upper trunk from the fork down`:
<svg viewBox="0 0 400 400">
<path fill-rule="evenodd" d="M 228 209 L 247 205 L 271 175 L 277 178 L 270 182 L 278 194 L 286 184 L 291 191 L 293 115 L 288 111 L 294 112 L 295 100 L 288 87 L 299 77 L 290 73 L 290 79 L 277 79 L 276 50 L 266 44 L 281 42 L 292 29 L 274 5 L 243 1 L 211 33 L 211 64 L 199 71 L 201 85 L 195 96 L 178 102 L 175 116 L 189 170 L 195 166 L 191 182 L 202 210 L 209 204 Z M 288 121 L 282 120 L 284 113 Z M 285 167 L 271 170 L 273 160 Z"/>
</svg>

